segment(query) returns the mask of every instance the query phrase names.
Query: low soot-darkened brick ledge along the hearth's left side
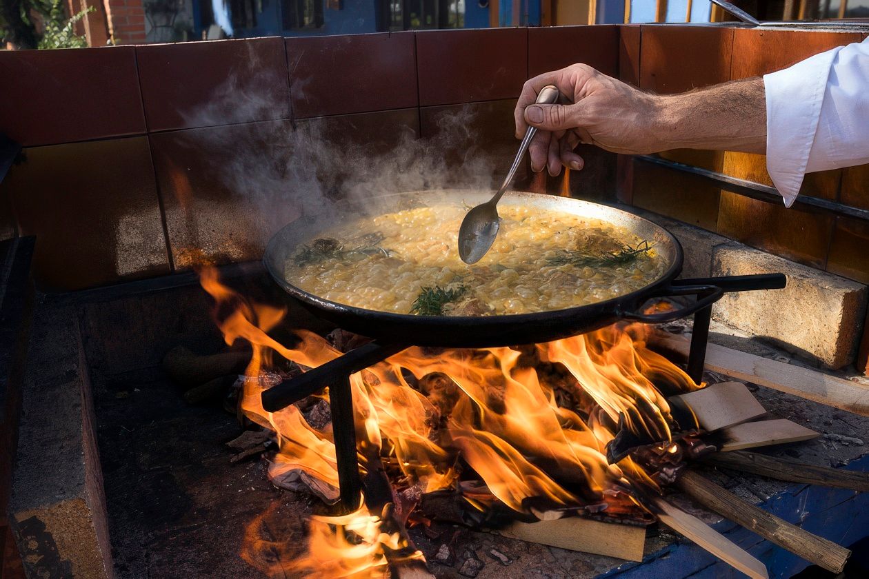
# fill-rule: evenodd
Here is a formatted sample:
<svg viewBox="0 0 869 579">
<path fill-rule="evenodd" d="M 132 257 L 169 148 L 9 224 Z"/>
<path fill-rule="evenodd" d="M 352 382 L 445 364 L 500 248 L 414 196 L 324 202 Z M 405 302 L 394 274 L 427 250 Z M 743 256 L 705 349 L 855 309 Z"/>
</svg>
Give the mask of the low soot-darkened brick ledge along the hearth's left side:
<svg viewBox="0 0 869 579">
<path fill-rule="evenodd" d="M 10 527 L 29 577 L 113 576 L 90 380 L 76 313 L 34 320 Z"/>
</svg>

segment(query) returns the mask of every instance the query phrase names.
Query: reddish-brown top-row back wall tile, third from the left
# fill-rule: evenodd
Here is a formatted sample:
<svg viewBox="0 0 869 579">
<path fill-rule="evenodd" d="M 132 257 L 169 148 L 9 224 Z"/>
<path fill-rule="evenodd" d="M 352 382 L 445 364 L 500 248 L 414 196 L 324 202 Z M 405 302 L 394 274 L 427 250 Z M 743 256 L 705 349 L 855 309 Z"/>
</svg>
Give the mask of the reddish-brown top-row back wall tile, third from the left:
<svg viewBox="0 0 869 579">
<path fill-rule="evenodd" d="M 419 104 L 413 32 L 286 39 L 293 116 Z"/>
</svg>

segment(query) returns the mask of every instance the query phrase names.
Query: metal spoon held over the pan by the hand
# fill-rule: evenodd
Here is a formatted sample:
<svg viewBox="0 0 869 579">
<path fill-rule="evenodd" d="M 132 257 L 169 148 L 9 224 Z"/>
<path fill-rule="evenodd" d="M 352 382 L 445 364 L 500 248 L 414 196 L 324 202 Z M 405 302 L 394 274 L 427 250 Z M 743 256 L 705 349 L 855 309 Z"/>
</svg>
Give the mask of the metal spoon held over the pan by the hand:
<svg viewBox="0 0 869 579">
<path fill-rule="evenodd" d="M 559 92 L 553 85 L 548 84 L 543 87 L 540 93 L 537 94 L 537 104 L 553 104 L 558 101 Z M 498 235 L 498 229 L 501 227 L 501 217 L 498 216 L 498 209 L 495 207 L 498 201 L 501 201 L 501 195 L 507 191 L 507 187 L 513 182 L 513 177 L 516 174 L 516 169 L 519 168 L 519 163 L 525 152 L 528 150 L 528 145 L 531 144 L 531 139 L 537 132 L 536 127 L 528 127 L 525 131 L 525 137 L 519 145 L 519 152 L 513 161 L 513 166 L 507 172 L 507 179 L 501 183 L 501 188 L 494 194 L 492 199 L 481 203 L 474 207 L 465 219 L 461 221 L 459 227 L 459 257 L 465 263 L 471 264 L 481 260 L 489 247 L 492 247 L 494 238 Z"/>
</svg>

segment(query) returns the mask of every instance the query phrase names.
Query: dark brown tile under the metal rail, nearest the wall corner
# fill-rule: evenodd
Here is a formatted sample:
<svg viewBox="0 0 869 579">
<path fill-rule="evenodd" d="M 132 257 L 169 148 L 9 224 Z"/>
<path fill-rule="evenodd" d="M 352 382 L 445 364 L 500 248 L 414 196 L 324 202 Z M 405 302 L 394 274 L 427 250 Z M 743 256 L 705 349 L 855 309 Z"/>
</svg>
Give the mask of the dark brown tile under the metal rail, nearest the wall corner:
<svg viewBox="0 0 869 579">
<path fill-rule="evenodd" d="M 633 191 L 636 207 L 715 230 L 720 189 L 702 177 L 637 162 Z"/>
</svg>

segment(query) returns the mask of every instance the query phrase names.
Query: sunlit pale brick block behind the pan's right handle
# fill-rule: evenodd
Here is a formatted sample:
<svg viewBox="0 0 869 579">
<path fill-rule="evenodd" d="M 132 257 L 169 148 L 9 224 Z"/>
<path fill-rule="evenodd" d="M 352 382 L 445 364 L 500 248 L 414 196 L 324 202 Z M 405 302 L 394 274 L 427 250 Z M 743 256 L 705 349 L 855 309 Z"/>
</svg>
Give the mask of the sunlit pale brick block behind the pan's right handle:
<svg viewBox="0 0 869 579">
<path fill-rule="evenodd" d="M 712 273 L 785 273 L 785 289 L 728 293 L 713 316 L 833 369 L 854 360 L 866 316 L 863 284 L 736 244 L 713 247 Z"/>
</svg>

